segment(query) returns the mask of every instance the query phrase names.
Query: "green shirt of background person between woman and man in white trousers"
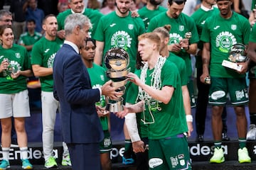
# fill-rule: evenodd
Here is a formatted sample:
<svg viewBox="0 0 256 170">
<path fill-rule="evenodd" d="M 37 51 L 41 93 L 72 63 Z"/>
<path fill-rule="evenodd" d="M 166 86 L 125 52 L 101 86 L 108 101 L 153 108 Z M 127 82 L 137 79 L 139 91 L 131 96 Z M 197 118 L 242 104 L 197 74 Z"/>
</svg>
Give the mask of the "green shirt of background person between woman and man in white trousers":
<svg viewBox="0 0 256 170">
<path fill-rule="evenodd" d="M 30 35 L 28 32 L 21 34 L 20 39 L 18 40 L 19 45 L 33 45 L 42 37 L 41 33 L 35 32 L 33 35 Z M 31 55 L 31 50 L 28 51 L 28 54 Z"/>
</svg>

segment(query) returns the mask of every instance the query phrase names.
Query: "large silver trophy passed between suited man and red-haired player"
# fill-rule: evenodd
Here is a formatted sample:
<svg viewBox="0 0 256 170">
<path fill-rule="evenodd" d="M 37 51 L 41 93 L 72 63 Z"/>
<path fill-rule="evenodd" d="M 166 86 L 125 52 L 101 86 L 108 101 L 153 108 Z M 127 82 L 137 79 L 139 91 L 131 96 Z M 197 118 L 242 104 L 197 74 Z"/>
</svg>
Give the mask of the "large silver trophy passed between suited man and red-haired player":
<svg viewBox="0 0 256 170">
<path fill-rule="evenodd" d="M 130 72 L 130 68 L 127 68 L 129 65 L 128 53 L 120 47 L 112 47 L 106 52 L 105 65 L 107 67 L 107 77 L 113 81 L 112 86 L 117 88 L 116 91 L 124 94 L 125 84 L 128 80 L 126 76 Z M 117 96 L 117 100 L 109 100 L 107 102 L 106 110 L 113 113 L 122 111 L 123 100 L 122 96 Z"/>
</svg>

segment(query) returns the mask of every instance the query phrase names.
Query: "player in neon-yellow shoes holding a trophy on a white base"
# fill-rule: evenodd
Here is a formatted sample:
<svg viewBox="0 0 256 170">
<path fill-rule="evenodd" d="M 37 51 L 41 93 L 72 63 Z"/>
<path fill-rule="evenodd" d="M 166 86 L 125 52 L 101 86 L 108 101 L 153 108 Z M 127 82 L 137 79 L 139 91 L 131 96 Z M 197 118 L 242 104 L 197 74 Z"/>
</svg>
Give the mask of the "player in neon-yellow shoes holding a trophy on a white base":
<svg viewBox="0 0 256 170">
<path fill-rule="evenodd" d="M 228 60 L 230 57 L 231 47 L 238 43 L 247 45 L 250 35 L 249 21 L 231 10 L 232 2 L 232 0 L 217 0 L 220 13 L 216 13 L 206 20 L 201 34 L 203 74 L 200 79 L 204 83 L 206 77 L 210 77 L 209 103 L 213 108 L 211 120 L 215 148 L 210 163 L 225 162 L 224 152 L 221 148 L 223 128 L 221 115 L 223 106 L 226 105 L 227 94 L 230 96 L 231 105 L 236 114 L 239 140 L 238 161 L 240 163 L 251 162 L 245 147 L 247 131 L 245 104 L 248 103 L 245 72 L 247 72 L 249 60 L 238 63 L 242 66 L 240 71 L 222 65 L 223 60 Z"/>
</svg>

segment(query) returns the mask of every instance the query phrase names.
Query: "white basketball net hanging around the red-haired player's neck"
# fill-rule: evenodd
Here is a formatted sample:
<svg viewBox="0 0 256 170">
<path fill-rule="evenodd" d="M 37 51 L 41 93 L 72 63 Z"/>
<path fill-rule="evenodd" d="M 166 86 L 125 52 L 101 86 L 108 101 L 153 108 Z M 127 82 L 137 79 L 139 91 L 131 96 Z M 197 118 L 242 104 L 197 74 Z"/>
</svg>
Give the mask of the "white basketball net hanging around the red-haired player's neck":
<svg viewBox="0 0 256 170">
<path fill-rule="evenodd" d="M 159 58 L 157 59 L 156 65 L 154 66 L 154 71 L 149 75 L 149 77 L 151 77 L 150 86 L 153 89 L 160 89 L 161 88 L 161 69 L 164 66 L 165 62 L 166 62 L 166 58 L 162 57 L 160 55 Z M 140 75 L 140 79 L 142 80 L 142 82 L 144 84 L 146 84 L 146 72 L 147 72 L 148 69 L 149 69 L 149 63 L 145 62 L 144 67 L 142 67 L 142 73 Z M 144 101 L 144 103 L 149 107 L 149 113 L 150 113 L 151 118 L 152 118 L 152 122 L 146 123 L 146 116 L 145 116 L 145 113 L 143 111 L 142 122 L 144 124 L 154 123 L 154 116 L 151 113 L 151 108 L 150 108 L 151 96 L 149 96 L 149 94 L 147 94 L 146 91 L 144 91 L 140 86 L 139 86 L 139 94 L 137 96 L 136 101 L 138 101 L 138 100 L 139 101 Z M 158 103 L 160 103 L 160 101 L 156 101 L 156 102 L 157 102 L 157 106 L 158 106 Z M 161 108 L 157 108 L 157 109 L 159 111 L 161 111 Z"/>
</svg>

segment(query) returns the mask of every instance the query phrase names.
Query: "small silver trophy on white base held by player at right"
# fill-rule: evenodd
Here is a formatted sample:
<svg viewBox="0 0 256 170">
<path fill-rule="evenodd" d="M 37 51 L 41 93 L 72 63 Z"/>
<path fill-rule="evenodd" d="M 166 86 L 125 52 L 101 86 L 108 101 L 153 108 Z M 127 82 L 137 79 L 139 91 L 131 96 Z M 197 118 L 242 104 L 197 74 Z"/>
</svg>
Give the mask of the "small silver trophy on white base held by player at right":
<svg viewBox="0 0 256 170">
<path fill-rule="evenodd" d="M 223 60 L 222 65 L 230 69 L 241 71 L 242 65 L 237 64 L 237 62 L 245 62 L 247 60 L 245 55 L 245 45 L 240 43 L 233 45 L 230 48 L 229 54 L 230 56 L 228 57 L 228 60 L 230 61 Z"/>
</svg>

